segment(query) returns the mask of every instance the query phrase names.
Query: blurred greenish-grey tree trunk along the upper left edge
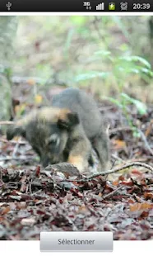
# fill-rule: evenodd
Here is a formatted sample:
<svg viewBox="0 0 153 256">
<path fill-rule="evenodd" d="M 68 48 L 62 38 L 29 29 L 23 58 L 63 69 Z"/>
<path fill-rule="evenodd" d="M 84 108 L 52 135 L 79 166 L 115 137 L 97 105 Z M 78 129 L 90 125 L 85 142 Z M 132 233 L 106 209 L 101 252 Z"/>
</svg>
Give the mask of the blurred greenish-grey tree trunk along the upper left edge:
<svg viewBox="0 0 153 256">
<path fill-rule="evenodd" d="M 13 39 L 16 36 L 17 18 L 0 17 L 0 120 L 9 120 L 12 109 Z M 0 127 L 2 130 L 2 127 Z"/>
</svg>

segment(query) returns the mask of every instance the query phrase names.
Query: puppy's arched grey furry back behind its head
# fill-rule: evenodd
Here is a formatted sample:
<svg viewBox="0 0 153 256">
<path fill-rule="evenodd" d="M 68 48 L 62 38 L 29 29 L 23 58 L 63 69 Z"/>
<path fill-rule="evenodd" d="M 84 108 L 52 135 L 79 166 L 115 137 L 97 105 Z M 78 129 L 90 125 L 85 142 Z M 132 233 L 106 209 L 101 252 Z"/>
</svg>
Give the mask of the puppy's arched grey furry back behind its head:
<svg viewBox="0 0 153 256">
<path fill-rule="evenodd" d="M 68 108 L 78 113 L 88 138 L 93 138 L 102 129 L 102 116 L 95 100 L 77 88 L 67 88 L 53 97 L 53 107 Z"/>
</svg>

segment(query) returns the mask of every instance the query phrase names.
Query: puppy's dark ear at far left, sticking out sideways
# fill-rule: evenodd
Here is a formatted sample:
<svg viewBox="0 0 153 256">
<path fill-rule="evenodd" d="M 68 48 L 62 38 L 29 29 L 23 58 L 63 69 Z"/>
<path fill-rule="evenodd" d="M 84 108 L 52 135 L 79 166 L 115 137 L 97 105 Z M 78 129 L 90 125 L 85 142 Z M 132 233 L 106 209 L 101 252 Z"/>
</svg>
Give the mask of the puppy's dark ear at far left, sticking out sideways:
<svg viewBox="0 0 153 256">
<path fill-rule="evenodd" d="M 26 138 L 26 129 L 24 126 L 13 125 L 7 129 L 7 140 L 12 140 L 15 136 L 22 136 Z"/>
</svg>

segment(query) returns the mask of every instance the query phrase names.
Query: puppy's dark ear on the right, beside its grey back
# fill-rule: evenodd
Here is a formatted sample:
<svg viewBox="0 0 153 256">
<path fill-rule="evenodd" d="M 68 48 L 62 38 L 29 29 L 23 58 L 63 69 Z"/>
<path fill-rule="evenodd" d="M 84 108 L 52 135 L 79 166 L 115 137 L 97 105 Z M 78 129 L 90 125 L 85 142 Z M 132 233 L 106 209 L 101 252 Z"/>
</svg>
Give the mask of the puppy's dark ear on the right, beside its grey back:
<svg viewBox="0 0 153 256">
<path fill-rule="evenodd" d="M 60 128 L 65 129 L 72 129 L 74 126 L 78 125 L 80 123 L 79 116 L 76 112 L 69 112 L 65 116 L 65 118 L 58 119 L 58 126 Z"/>
</svg>

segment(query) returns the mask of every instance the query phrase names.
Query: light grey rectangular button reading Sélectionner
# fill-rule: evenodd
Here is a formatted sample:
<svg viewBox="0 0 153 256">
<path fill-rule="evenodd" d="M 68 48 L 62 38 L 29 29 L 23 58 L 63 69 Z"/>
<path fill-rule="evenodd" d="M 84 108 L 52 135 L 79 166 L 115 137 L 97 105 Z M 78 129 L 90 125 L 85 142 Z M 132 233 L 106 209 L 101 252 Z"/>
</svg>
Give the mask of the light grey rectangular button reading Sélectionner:
<svg viewBox="0 0 153 256">
<path fill-rule="evenodd" d="M 113 251 L 113 232 L 41 232 L 40 251 Z"/>
</svg>

